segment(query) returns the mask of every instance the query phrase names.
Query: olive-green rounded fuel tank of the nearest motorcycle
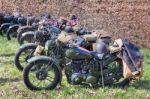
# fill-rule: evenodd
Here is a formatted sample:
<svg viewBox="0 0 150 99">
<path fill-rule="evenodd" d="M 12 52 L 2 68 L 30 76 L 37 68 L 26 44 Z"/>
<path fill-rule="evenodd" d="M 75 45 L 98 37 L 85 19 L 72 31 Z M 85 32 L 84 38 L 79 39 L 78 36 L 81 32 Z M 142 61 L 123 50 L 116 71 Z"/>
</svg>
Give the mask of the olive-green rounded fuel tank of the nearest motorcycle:
<svg viewBox="0 0 150 99">
<path fill-rule="evenodd" d="M 92 55 L 90 51 L 82 48 L 82 47 L 77 47 L 77 48 L 70 48 L 65 51 L 65 56 L 69 59 L 91 59 Z"/>
</svg>

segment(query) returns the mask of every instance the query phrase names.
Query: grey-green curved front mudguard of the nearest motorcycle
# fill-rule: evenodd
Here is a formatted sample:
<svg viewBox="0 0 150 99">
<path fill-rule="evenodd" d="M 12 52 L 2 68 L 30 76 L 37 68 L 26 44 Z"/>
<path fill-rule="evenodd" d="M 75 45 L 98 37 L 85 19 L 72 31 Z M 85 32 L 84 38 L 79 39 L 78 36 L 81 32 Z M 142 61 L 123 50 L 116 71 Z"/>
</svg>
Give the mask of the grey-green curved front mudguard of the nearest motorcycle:
<svg viewBox="0 0 150 99">
<path fill-rule="evenodd" d="M 48 56 L 36 56 L 36 57 L 32 57 L 28 60 L 28 63 L 32 64 L 38 61 L 42 61 L 42 60 L 48 60 L 48 61 L 53 61 L 55 66 L 57 66 L 59 72 L 60 72 L 60 83 L 62 81 L 62 69 L 61 67 L 57 64 L 57 62 L 55 62 L 52 58 L 48 57 Z"/>
</svg>

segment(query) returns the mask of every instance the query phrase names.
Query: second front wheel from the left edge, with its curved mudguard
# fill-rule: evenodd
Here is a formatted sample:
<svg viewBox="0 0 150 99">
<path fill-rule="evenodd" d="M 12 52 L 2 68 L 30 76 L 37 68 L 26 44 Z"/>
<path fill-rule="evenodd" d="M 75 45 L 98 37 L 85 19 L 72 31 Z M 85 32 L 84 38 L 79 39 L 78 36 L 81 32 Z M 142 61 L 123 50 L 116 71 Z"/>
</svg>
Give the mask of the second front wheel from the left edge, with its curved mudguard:
<svg viewBox="0 0 150 99">
<path fill-rule="evenodd" d="M 17 30 L 18 30 L 18 28 L 19 28 L 19 25 L 17 25 L 17 24 L 12 25 L 12 26 L 9 26 L 9 28 L 8 28 L 8 30 L 7 30 L 7 33 L 6 33 L 8 40 L 11 40 L 11 37 L 10 37 L 10 34 L 11 34 L 11 33 L 14 33 L 14 32 L 15 32 L 16 35 L 17 35 Z"/>
</svg>

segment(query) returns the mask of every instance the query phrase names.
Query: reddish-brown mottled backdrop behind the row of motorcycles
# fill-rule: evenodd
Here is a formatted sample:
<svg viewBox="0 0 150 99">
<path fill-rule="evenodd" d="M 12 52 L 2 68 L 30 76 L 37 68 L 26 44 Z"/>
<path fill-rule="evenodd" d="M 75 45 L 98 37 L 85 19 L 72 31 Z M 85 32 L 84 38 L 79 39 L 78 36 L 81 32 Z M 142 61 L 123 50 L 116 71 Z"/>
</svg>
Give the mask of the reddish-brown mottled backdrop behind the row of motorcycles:
<svg viewBox="0 0 150 99">
<path fill-rule="evenodd" d="M 76 14 L 89 30 L 103 29 L 150 48 L 150 0 L 0 0 L 0 11 L 48 12 L 55 18 Z"/>
</svg>

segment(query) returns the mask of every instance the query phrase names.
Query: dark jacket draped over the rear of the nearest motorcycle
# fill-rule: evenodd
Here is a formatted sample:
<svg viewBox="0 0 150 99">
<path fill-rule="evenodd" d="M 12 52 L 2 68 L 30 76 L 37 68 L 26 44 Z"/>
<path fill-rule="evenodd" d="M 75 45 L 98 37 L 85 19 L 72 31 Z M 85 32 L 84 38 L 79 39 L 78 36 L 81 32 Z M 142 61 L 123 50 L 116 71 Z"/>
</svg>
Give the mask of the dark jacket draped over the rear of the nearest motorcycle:
<svg viewBox="0 0 150 99">
<path fill-rule="evenodd" d="M 144 57 L 136 45 L 132 44 L 128 40 L 123 40 L 122 51 L 118 54 L 118 57 L 128 65 L 132 74 L 141 72 L 140 65 Z"/>
</svg>

